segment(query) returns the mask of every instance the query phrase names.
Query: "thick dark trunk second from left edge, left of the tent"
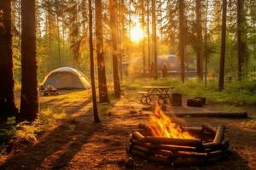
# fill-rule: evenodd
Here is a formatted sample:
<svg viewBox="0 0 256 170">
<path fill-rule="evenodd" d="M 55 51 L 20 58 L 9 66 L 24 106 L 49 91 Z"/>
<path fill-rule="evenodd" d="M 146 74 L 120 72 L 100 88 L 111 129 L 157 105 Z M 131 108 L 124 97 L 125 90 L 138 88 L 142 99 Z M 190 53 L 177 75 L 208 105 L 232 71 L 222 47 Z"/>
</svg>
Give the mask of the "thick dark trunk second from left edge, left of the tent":
<svg viewBox="0 0 256 170">
<path fill-rule="evenodd" d="M 21 94 L 20 118 L 33 121 L 38 116 L 35 0 L 21 1 Z"/>
</svg>

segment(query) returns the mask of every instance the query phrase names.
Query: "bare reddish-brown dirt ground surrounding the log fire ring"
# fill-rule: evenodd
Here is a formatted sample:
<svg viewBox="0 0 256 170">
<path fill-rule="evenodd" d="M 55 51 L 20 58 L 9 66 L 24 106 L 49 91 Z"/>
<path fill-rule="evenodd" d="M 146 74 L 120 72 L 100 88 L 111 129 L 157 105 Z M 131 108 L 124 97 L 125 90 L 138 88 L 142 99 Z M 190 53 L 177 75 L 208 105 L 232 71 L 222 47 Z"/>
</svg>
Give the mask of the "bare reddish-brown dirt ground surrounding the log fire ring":
<svg viewBox="0 0 256 170">
<path fill-rule="evenodd" d="M 133 92 L 131 92 L 133 93 Z M 133 96 L 133 95 L 129 95 Z M 43 99 L 45 105 L 55 100 Z M 114 101 L 108 113 L 102 115 L 102 123 L 93 123 L 90 101 L 80 101 L 77 105 L 63 107 L 70 115 L 53 131 L 47 132 L 32 147 L 5 156 L 0 169 L 125 169 L 127 159 L 125 147 L 129 133 L 137 128 L 139 122 L 147 122 L 150 111 L 133 113 L 143 105 L 138 96 L 124 97 Z M 168 107 L 167 111 L 214 111 L 217 105 L 206 105 L 204 108 Z M 256 116 L 255 111 L 250 115 Z M 218 119 L 186 117 L 183 123 L 200 126 L 207 122 L 216 127 L 223 122 L 227 127 L 227 136 L 233 146 L 234 154 L 224 161 L 204 167 L 164 167 L 135 159 L 134 169 L 256 169 L 256 130 L 244 126 L 249 119 Z"/>
</svg>

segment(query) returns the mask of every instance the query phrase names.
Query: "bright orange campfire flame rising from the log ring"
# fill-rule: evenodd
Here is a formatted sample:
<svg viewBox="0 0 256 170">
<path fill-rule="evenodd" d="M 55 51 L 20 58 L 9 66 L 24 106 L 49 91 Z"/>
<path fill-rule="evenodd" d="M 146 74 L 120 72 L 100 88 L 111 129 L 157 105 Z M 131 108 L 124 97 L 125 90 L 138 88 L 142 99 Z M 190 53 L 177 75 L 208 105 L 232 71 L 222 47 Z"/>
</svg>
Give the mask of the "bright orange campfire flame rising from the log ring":
<svg viewBox="0 0 256 170">
<path fill-rule="evenodd" d="M 172 119 L 165 115 L 158 104 L 155 105 L 154 115 L 150 116 L 149 127 L 155 137 L 195 139 L 188 132 L 184 132 L 179 125 L 172 122 Z"/>
</svg>

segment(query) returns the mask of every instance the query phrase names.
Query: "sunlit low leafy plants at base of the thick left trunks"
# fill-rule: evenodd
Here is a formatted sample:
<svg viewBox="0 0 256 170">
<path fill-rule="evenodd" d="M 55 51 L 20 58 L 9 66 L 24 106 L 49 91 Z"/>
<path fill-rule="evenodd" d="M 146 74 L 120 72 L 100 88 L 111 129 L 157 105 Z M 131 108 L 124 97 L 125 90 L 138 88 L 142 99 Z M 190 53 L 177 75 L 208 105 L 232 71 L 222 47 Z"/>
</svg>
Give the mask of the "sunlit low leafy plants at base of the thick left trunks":
<svg viewBox="0 0 256 170">
<path fill-rule="evenodd" d="M 53 108 L 43 108 L 34 122 L 16 124 L 15 117 L 9 117 L 0 128 L 0 156 L 7 154 L 9 145 L 34 143 L 38 134 L 56 127 L 66 117 L 65 112 Z"/>
</svg>

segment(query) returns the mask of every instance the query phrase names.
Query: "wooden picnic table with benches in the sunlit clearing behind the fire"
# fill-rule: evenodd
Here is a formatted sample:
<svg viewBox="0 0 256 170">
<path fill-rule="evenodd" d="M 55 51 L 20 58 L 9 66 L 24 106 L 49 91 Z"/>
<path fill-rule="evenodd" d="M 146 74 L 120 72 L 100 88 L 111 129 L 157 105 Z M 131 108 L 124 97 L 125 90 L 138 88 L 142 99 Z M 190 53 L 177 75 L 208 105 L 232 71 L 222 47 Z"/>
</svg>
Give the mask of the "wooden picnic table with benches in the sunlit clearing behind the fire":
<svg viewBox="0 0 256 170">
<path fill-rule="evenodd" d="M 138 94 L 142 94 L 141 102 L 142 103 L 150 103 L 152 101 L 151 96 L 158 96 L 158 101 L 163 100 L 164 103 L 167 103 L 167 100 L 171 102 L 171 93 L 169 90 L 173 87 L 171 86 L 143 86 L 146 91 L 137 92 Z"/>
</svg>

